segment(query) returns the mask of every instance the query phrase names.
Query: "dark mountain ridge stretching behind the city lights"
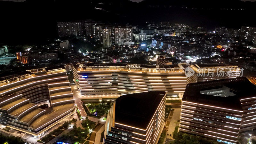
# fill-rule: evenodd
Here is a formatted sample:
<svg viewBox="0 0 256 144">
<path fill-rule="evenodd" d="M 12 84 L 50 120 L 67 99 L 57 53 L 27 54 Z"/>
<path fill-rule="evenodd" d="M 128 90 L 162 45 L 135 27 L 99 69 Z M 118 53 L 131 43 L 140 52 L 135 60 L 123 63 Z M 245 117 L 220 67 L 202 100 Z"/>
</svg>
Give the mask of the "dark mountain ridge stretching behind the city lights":
<svg viewBox="0 0 256 144">
<path fill-rule="evenodd" d="M 58 21 L 93 19 L 121 25 L 169 21 L 214 29 L 255 25 L 256 2 L 239 0 L 27 0 L 0 1 L 0 43 L 40 43 L 56 38 Z M 100 8 L 100 9 L 96 9 Z"/>
</svg>

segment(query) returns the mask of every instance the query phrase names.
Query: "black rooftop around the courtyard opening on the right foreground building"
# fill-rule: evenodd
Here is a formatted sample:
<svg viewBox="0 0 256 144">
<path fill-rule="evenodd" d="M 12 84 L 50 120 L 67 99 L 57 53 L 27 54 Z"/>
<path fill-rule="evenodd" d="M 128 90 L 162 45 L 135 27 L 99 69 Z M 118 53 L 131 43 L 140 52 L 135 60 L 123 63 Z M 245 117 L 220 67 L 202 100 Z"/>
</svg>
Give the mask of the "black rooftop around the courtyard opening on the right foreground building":
<svg viewBox="0 0 256 144">
<path fill-rule="evenodd" d="M 228 92 L 231 92 L 231 94 L 226 96 L 224 94 L 219 96 L 210 93 L 205 94 L 206 91 L 216 92 L 221 91 L 223 88 L 228 88 Z M 246 77 L 237 77 L 187 84 L 182 101 L 242 110 L 240 100 L 255 97 L 255 93 L 256 86 Z"/>
</svg>

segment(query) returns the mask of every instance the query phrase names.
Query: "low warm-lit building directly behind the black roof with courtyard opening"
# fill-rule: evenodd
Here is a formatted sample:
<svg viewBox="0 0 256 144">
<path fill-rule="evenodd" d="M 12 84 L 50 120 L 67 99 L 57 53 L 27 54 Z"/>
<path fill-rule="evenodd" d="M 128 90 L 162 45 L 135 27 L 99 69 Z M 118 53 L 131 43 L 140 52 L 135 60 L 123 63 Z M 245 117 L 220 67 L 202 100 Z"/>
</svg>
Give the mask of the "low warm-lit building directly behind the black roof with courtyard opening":
<svg viewBox="0 0 256 144">
<path fill-rule="evenodd" d="M 243 70 L 237 66 L 221 65 L 190 65 L 186 68 L 188 74 L 188 84 L 239 77 L 243 75 Z"/>
</svg>

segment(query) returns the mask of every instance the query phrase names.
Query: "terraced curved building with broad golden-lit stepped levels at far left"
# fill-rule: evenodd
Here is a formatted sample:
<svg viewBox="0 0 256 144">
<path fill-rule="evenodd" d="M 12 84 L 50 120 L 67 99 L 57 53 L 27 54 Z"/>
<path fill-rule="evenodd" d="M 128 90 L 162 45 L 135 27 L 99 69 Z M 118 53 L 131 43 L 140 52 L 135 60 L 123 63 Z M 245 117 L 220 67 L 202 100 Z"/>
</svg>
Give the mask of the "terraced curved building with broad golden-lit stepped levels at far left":
<svg viewBox="0 0 256 144">
<path fill-rule="evenodd" d="M 2 125 L 41 136 L 76 110 L 64 66 L 28 70 L 1 80 Z M 38 108 L 43 103 L 49 108 Z"/>
</svg>

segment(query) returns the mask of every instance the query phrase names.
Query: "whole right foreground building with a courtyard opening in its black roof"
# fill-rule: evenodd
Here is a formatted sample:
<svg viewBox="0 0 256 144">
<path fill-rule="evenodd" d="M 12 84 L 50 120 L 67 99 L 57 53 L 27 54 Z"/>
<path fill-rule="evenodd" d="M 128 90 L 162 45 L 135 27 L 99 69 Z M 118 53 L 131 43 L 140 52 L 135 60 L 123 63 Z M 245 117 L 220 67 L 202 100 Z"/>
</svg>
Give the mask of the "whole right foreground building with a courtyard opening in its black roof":
<svg viewBox="0 0 256 144">
<path fill-rule="evenodd" d="M 245 77 L 188 84 L 179 131 L 236 144 L 256 130 L 256 87 Z"/>
</svg>

